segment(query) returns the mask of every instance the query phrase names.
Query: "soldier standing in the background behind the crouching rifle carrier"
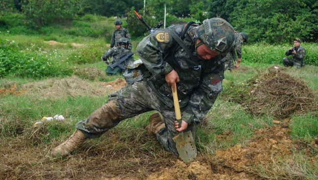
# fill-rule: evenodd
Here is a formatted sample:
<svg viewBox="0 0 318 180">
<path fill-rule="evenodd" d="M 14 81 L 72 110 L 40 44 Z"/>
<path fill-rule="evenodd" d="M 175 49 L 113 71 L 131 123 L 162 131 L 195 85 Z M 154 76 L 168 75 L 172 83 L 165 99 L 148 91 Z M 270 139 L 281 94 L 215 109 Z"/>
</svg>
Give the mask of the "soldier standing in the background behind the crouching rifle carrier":
<svg viewBox="0 0 318 180">
<path fill-rule="evenodd" d="M 114 24 L 116 25 L 116 30 L 114 30 L 113 35 L 112 35 L 112 40 L 111 40 L 111 48 L 112 47 L 117 47 L 118 46 L 118 40 L 120 38 L 127 38 L 129 45 L 129 49 L 133 49 L 133 45 L 131 42 L 130 34 L 127 29 L 121 27 L 121 22 L 120 20 L 115 20 Z"/>
</svg>

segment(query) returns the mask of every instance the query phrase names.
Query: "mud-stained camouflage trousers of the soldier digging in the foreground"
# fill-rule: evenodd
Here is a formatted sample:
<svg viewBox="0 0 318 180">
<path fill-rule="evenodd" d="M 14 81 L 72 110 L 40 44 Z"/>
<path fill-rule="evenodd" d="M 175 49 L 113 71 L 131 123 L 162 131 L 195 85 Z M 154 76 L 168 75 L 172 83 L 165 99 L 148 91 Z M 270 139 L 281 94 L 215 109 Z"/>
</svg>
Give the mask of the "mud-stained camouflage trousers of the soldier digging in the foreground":
<svg viewBox="0 0 318 180">
<path fill-rule="evenodd" d="M 181 112 L 185 108 L 181 108 Z M 87 119 L 78 122 L 76 128 L 88 138 L 97 138 L 122 120 L 154 110 L 162 114 L 165 124 L 165 128 L 159 130 L 157 139 L 166 150 L 179 155 L 176 143 L 172 140 L 174 136 L 178 135 L 174 123 L 175 109 L 166 106 L 145 81 L 126 86 L 111 94 L 106 104 L 92 112 Z M 145 119 L 145 121 L 147 120 Z M 194 123 L 189 124 L 185 131 L 191 131 L 195 137 Z"/>
</svg>

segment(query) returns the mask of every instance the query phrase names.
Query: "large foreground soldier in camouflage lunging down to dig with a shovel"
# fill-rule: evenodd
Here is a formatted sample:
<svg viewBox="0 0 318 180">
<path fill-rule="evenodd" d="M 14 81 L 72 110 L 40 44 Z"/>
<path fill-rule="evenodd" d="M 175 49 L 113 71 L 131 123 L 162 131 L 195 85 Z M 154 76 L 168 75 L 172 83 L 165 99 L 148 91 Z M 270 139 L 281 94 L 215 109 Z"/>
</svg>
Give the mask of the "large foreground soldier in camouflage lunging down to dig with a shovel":
<svg viewBox="0 0 318 180">
<path fill-rule="evenodd" d="M 224 56 L 234 45 L 234 29 L 221 18 L 157 29 L 136 48 L 152 75 L 110 94 L 106 104 L 76 124 L 74 134 L 54 148 L 52 156 L 68 156 L 87 138 L 97 138 L 122 120 L 154 110 L 163 119 L 152 115 L 148 132 L 157 135 L 167 151 L 179 155 L 173 137 L 182 131 L 195 136 L 195 126 L 223 90 Z M 178 93 L 180 128 L 171 86 Z"/>
</svg>

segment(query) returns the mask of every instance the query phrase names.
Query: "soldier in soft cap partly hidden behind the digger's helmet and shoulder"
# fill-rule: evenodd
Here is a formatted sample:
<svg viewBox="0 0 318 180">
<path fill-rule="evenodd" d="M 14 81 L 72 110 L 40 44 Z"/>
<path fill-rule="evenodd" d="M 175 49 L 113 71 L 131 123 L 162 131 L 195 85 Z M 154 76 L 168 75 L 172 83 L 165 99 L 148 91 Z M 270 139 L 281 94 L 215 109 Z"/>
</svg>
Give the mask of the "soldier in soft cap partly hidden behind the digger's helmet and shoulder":
<svg viewBox="0 0 318 180">
<path fill-rule="evenodd" d="M 239 67 L 239 64 L 242 61 L 242 44 L 243 42 L 248 41 L 248 34 L 245 32 L 237 32 L 235 31 L 235 48 L 231 49 L 229 53 L 227 53 L 226 56 L 226 61 L 225 61 L 225 70 L 229 69 L 232 71 L 235 68 Z M 236 52 L 236 53 L 235 53 Z M 237 60 L 236 60 L 236 55 L 237 55 Z M 235 66 L 233 64 L 233 60 L 235 62 Z"/>
</svg>

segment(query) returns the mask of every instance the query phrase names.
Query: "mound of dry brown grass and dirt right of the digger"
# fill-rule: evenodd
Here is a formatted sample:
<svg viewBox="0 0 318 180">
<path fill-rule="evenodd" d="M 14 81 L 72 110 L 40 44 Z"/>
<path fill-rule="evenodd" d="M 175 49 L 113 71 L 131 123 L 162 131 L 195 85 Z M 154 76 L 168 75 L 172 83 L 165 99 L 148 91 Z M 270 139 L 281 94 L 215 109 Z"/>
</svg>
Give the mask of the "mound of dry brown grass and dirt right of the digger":
<svg viewBox="0 0 318 180">
<path fill-rule="evenodd" d="M 285 119 L 293 113 L 318 110 L 317 99 L 303 80 L 273 67 L 259 72 L 242 89 L 247 93 L 240 103 L 255 116 L 268 114 Z"/>
</svg>

